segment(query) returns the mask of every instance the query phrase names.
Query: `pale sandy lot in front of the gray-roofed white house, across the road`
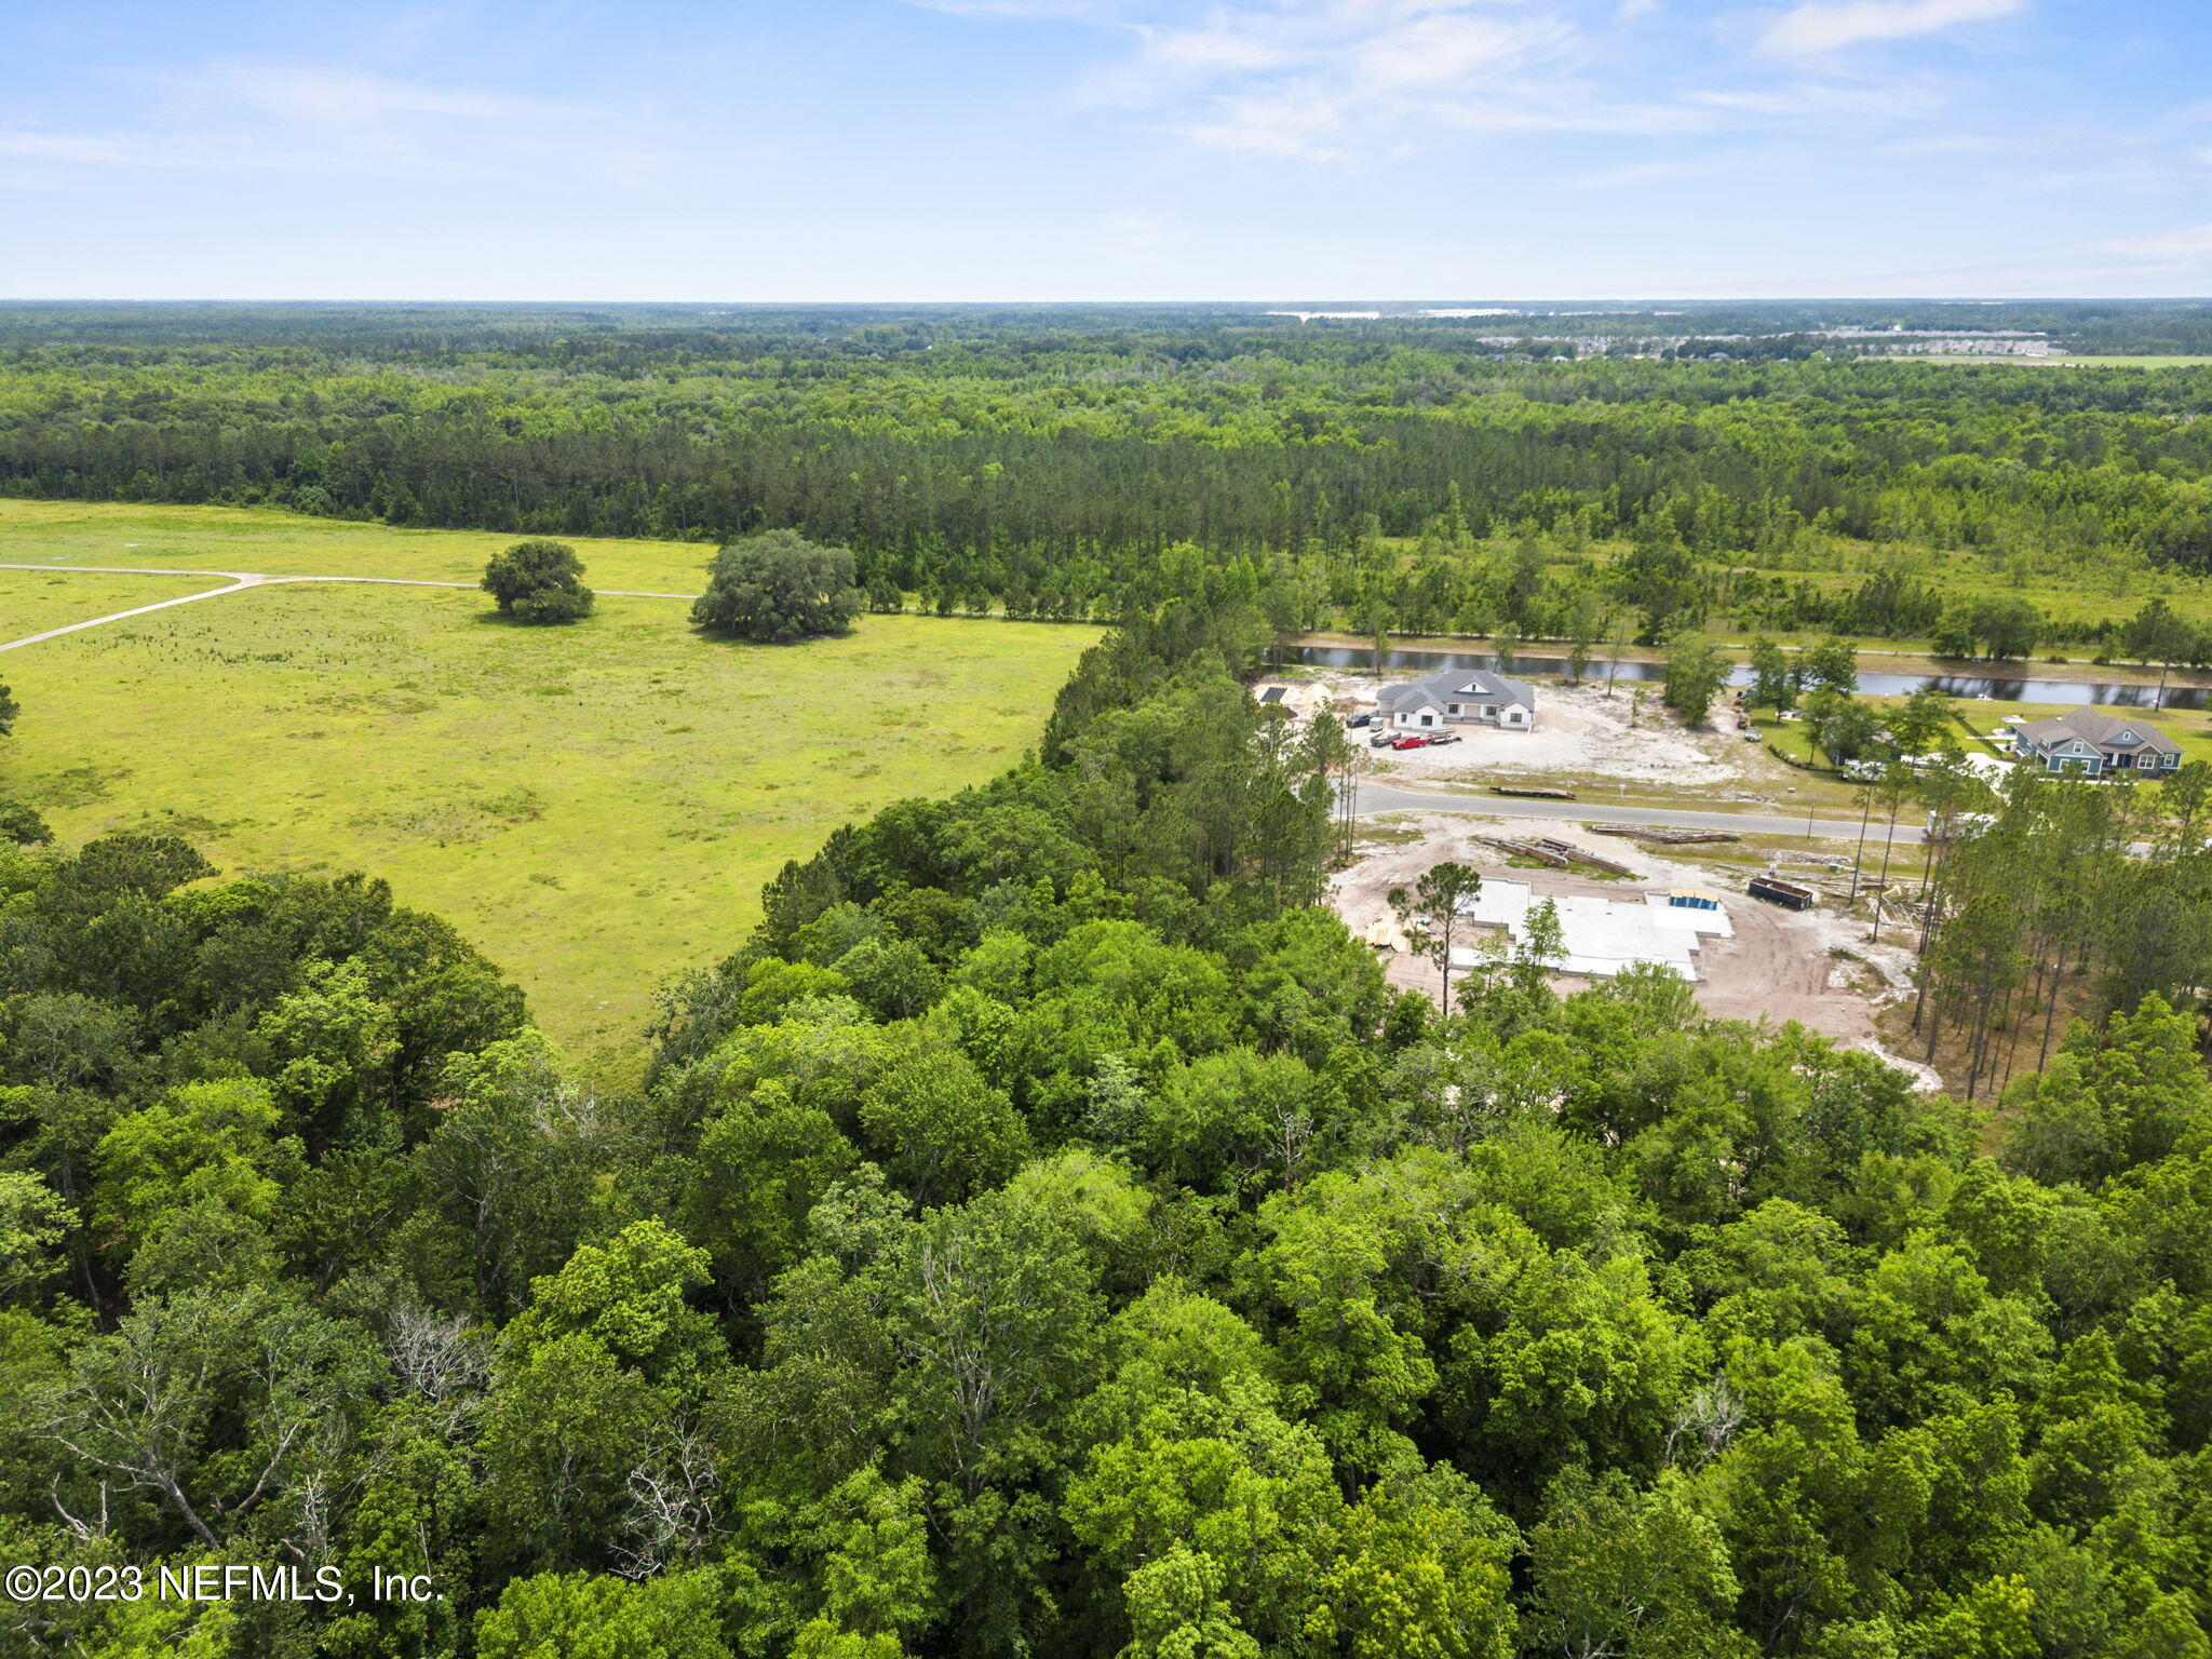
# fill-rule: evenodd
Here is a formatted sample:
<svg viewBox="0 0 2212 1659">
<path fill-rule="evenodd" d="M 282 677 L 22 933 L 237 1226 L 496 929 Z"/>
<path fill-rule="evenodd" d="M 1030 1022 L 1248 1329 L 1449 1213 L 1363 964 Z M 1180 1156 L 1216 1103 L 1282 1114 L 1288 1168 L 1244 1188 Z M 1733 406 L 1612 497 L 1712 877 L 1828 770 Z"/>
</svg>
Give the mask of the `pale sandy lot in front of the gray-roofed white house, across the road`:
<svg viewBox="0 0 2212 1659">
<path fill-rule="evenodd" d="M 1374 708 L 1385 684 L 1371 677 L 1332 677 L 1325 681 L 1338 708 L 1360 712 Z M 1321 686 L 1316 686 L 1316 695 Z M 1630 726 L 1630 719 L 1635 723 Z M 1717 719 L 1725 717 L 1717 710 Z M 1537 686 L 1535 730 L 1502 732 L 1493 726 L 1453 726 L 1460 743 L 1420 750 L 1376 750 L 1378 776 L 1405 779 L 1480 779 L 1513 783 L 1522 779 L 1573 776 L 1617 783 L 1668 783 L 1683 790 L 1723 790 L 1745 779 L 1745 768 L 1763 761 L 1756 743 L 1734 732 L 1683 730 L 1659 708 L 1657 688 L 1644 688 L 1644 706 L 1635 708 L 1628 686 L 1606 697 L 1604 686 Z M 1363 732 L 1354 732 L 1363 737 Z"/>
</svg>

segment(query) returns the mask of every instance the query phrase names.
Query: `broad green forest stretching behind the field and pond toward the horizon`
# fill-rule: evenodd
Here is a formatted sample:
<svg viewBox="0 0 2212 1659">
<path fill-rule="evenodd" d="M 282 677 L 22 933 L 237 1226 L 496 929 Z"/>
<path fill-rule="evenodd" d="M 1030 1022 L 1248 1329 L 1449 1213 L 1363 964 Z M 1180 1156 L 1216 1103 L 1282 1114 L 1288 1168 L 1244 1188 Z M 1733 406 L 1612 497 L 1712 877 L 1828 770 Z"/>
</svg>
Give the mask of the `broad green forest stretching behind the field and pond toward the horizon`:
<svg viewBox="0 0 2212 1659">
<path fill-rule="evenodd" d="M 1469 327 L 1208 314 L 13 307 L 0 489 L 518 535 L 792 529 L 947 611 L 1113 617 L 1190 549 L 1354 628 L 1566 639 L 1619 604 L 1646 637 L 1674 613 L 1944 624 L 2002 657 L 2097 624 L 2039 617 L 2024 646 L 2026 597 L 1947 615 L 1907 555 L 2212 568 L 2208 396 L 2203 369 L 1506 363 Z M 1840 542 L 1900 557 L 1856 588 L 1796 573 Z"/>
</svg>

